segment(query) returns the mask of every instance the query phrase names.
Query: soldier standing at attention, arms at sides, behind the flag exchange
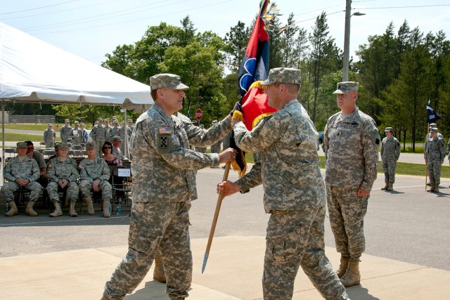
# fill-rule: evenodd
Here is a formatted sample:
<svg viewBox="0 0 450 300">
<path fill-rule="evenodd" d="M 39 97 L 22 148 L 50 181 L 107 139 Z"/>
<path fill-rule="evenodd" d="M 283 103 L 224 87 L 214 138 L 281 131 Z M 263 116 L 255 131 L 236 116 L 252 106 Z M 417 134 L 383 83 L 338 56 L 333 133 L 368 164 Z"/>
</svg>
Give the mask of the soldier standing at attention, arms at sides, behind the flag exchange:
<svg viewBox="0 0 450 300">
<path fill-rule="evenodd" d="M 345 287 L 359 285 L 364 252 L 364 216 L 377 178 L 380 133 L 373 119 L 356 107 L 358 82 L 338 83 L 340 112 L 326 124 L 323 148 L 330 225 L 340 252 L 338 276 Z"/>
</svg>

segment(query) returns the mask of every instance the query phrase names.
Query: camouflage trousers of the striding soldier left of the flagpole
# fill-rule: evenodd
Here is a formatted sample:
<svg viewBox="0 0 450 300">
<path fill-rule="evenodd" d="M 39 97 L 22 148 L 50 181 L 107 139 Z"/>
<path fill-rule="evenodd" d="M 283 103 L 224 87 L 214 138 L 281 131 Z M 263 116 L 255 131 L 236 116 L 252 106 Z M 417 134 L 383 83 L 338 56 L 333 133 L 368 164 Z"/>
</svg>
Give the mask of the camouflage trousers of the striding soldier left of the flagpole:
<svg viewBox="0 0 450 300">
<path fill-rule="evenodd" d="M 171 299 L 185 298 L 192 282 L 189 214 L 184 202 L 134 202 L 128 235 L 128 253 L 106 282 L 106 299 L 123 299 L 139 285 L 159 251 Z"/>
</svg>

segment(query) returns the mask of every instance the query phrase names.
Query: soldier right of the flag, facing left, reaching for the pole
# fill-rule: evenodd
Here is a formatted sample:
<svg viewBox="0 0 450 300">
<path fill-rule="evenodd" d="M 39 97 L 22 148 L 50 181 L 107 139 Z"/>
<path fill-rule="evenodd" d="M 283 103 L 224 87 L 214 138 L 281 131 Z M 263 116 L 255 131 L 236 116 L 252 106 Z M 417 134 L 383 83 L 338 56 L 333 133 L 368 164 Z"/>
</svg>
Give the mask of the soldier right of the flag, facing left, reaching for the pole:
<svg viewBox="0 0 450 300">
<path fill-rule="evenodd" d="M 245 193 L 262 184 L 264 210 L 271 214 L 266 233 L 262 289 L 264 299 L 292 299 L 301 266 L 326 299 L 348 299 L 325 255 L 325 183 L 319 169 L 319 133 L 297 100 L 300 70 L 270 70 L 269 105 L 278 111 L 264 117 L 250 132 L 233 120 L 235 141 L 246 152 L 261 152 L 261 162 L 236 183 L 219 183 L 224 196 Z"/>
</svg>

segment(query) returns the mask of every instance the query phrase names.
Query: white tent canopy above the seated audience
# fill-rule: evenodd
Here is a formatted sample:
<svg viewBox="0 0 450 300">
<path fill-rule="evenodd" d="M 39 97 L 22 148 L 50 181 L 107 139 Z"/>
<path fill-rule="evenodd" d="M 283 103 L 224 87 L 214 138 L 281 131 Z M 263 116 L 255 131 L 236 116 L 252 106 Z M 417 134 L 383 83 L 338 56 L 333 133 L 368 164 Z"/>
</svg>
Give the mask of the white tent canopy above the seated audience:
<svg viewBox="0 0 450 300">
<path fill-rule="evenodd" d="M 89 45 L 86 45 L 89 46 Z M 0 22 L 0 99 L 146 110 L 150 88 Z"/>
</svg>

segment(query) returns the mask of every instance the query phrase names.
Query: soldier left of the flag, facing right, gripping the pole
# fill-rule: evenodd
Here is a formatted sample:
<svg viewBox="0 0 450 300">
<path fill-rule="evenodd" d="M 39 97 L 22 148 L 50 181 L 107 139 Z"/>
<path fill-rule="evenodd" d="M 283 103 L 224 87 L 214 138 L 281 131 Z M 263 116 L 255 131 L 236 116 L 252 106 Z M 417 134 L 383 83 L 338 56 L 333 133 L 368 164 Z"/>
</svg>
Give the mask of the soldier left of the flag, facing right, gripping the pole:
<svg viewBox="0 0 450 300">
<path fill-rule="evenodd" d="M 147 274 L 160 249 L 165 263 L 166 292 L 170 299 L 184 299 L 192 281 L 188 200 L 196 197 L 193 172 L 221 162 L 231 162 L 232 149 L 221 154 L 202 154 L 189 149 L 219 141 L 231 131 L 226 117 L 205 131 L 184 123 L 174 113 L 183 108 L 180 77 L 158 74 L 150 77 L 155 104 L 136 120 L 130 149 L 134 159 L 133 206 L 128 253 L 106 282 L 102 299 L 124 299 Z"/>
</svg>

